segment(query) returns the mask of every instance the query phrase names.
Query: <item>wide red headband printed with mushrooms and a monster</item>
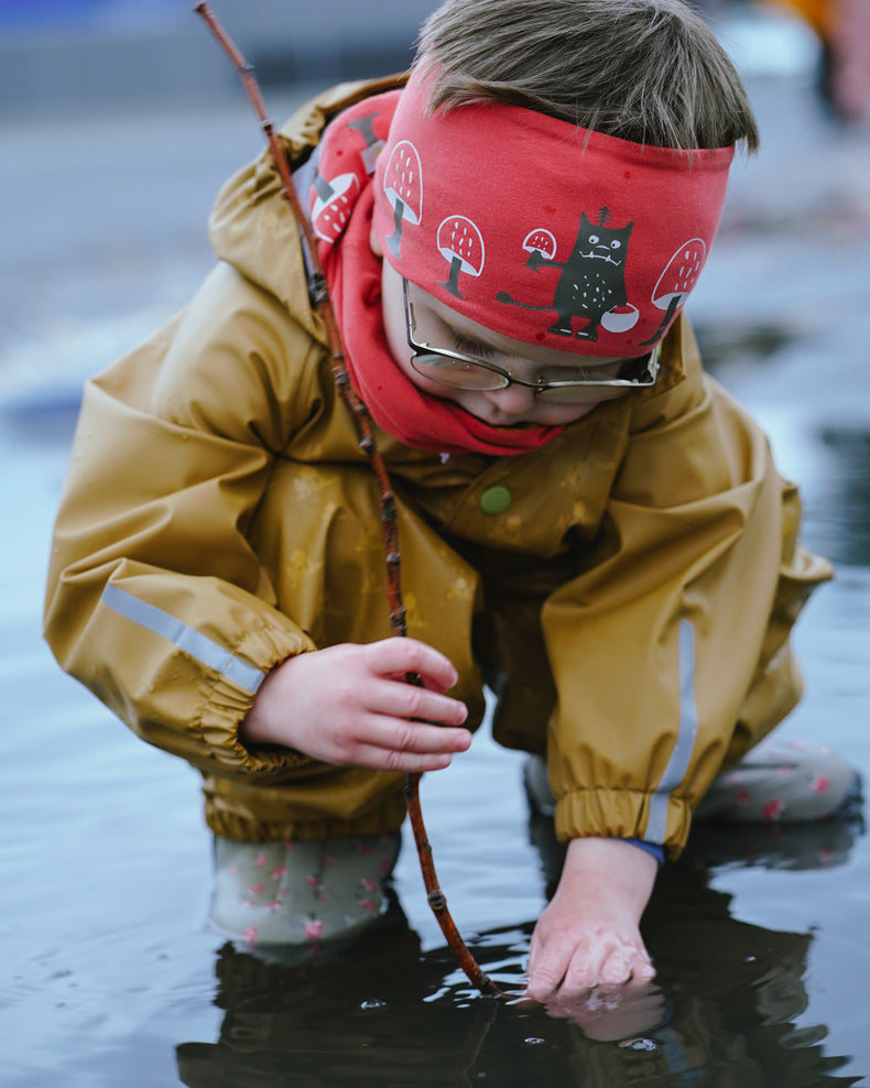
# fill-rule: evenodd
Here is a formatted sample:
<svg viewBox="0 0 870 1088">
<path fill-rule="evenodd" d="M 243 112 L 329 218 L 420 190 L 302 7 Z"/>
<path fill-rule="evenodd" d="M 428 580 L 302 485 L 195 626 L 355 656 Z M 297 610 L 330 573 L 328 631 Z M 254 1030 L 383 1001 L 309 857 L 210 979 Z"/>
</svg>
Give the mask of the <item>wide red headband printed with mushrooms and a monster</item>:
<svg viewBox="0 0 870 1088">
<path fill-rule="evenodd" d="M 374 178 L 385 260 L 513 339 L 641 355 L 697 283 L 733 148 L 681 152 L 501 104 L 402 91 Z"/>
</svg>

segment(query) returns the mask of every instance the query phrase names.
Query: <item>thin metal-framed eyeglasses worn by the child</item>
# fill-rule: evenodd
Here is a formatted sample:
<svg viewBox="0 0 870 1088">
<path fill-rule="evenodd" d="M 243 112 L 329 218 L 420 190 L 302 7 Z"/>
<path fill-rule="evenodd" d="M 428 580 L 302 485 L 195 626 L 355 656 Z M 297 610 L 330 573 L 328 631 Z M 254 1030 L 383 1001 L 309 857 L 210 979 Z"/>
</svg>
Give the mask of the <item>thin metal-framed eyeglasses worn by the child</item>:
<svg viewBox="0 0 870 1088">
<path fill-rule="evenodd" d="M 463 355 L 460 351 L 452 351 L 449 348 L 433 348 L 429 344 L 417 342 L 414 339 L 417 323 L 409 295 L 407 280 L 404 278 L 402 278 L 402 291 L 405 302 L 407 345 L 413 351 L 411 366 L 421 377 L 428 378 L 441 385 L 481 392 L 507 389 L 509 385 L 525 385 L 528 389 L 533 389 L 536 396 L 553 403 L 576 404 L 587 400 L 584 395 L 586 389 L 601 387 L 643 389 L 655 384 L 659 377 L 661 344 L 657 344 L 649 355 L 641 356 L 639 359 L 626 359 L 617 363 L 619 368 L 617 377 L 597 377 L 594 368 L 583 367 L 573 371 L 574 377 L 567 377 L 572 374 L 568 367 L 542 367 L 534 381 L 523 381 L 520 378 L 514 378 L 509 370 L 497 366 L 494 362 Z M 608 365 L 607 368 L 602 367 L 601 369 L 609 370 L 611 366 Z"/>
</svg>

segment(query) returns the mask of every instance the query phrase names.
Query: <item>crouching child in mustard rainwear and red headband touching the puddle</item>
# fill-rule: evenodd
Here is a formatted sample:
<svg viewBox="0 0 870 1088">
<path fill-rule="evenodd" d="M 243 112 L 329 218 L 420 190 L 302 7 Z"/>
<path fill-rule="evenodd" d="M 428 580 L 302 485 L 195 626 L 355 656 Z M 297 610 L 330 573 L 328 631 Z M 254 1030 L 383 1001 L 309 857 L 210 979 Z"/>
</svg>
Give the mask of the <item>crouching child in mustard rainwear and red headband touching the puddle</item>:
<svg viewBox="0 0 870 1088">
<path fill-rule="evenodd" d="M 410 638 L 268 153 L 222 191 L 188 308 L 87 388 L 46 632 L 200 771 L 214 917 L 265 943 L 377 914 L 405 774 L 468 749 L 488 684 L 569 844 L 529 967 L 569 998 L 652 977 L 657 867 L 797 700 L 790 629 L 830 573 L 682 315 L 755 123 L 679 0 L 447 0 L 403 84 L 338 88 L 282 140 L 396 492 Z"/>
</svg>

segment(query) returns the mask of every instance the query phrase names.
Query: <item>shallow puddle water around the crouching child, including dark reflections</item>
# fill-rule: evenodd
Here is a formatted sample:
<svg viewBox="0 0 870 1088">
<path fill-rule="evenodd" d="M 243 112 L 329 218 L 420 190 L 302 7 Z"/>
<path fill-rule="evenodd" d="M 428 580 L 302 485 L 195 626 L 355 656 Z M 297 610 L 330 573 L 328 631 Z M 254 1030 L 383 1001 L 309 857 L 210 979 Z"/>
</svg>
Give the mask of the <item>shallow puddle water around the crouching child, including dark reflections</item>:
<svg viewBox="0 0 870 1088">
<path fill-rule="evenodd" d="M 783 730 L 870 781 L 870 138 L 829 124 L 803 76 L 751 89 L 765 146 L 735 168 L 692 312 L 838 564 L 798 628 L 807 695 Z M 586 1031 L 470 992 L 409 848 L 391 911 L 340 958 L 267 962 L 208 929 L 194 774 L 61 674 L 39 612 L 81 381 L 196 286 L 204 209 L 260 135 L 240 106 L 7 121 L 0 141 L 0 1084 L 870 1082 L 859 822 L 700 830 L 648 914 L 655 1009 Z M 518 759 L 481 736 L 423 803 L 454 916 L 515 987 L 557 863 Z"/>
</svg>

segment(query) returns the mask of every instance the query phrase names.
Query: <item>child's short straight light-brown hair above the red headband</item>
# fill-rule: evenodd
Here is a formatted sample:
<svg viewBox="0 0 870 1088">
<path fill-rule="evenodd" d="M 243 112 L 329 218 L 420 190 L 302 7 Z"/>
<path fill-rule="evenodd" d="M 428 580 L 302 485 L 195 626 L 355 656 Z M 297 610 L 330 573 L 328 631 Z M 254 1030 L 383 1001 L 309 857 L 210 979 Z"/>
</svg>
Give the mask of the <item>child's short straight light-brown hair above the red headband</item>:
<svg viewBox="0 0 870 1088">
<path fill-rule="evenodd" d="M 429 105 L 507 101 L 660 148 L 758 148 L 746 88 L 681 0 L 446 0 L 415 65 Z"/>
</svg>

